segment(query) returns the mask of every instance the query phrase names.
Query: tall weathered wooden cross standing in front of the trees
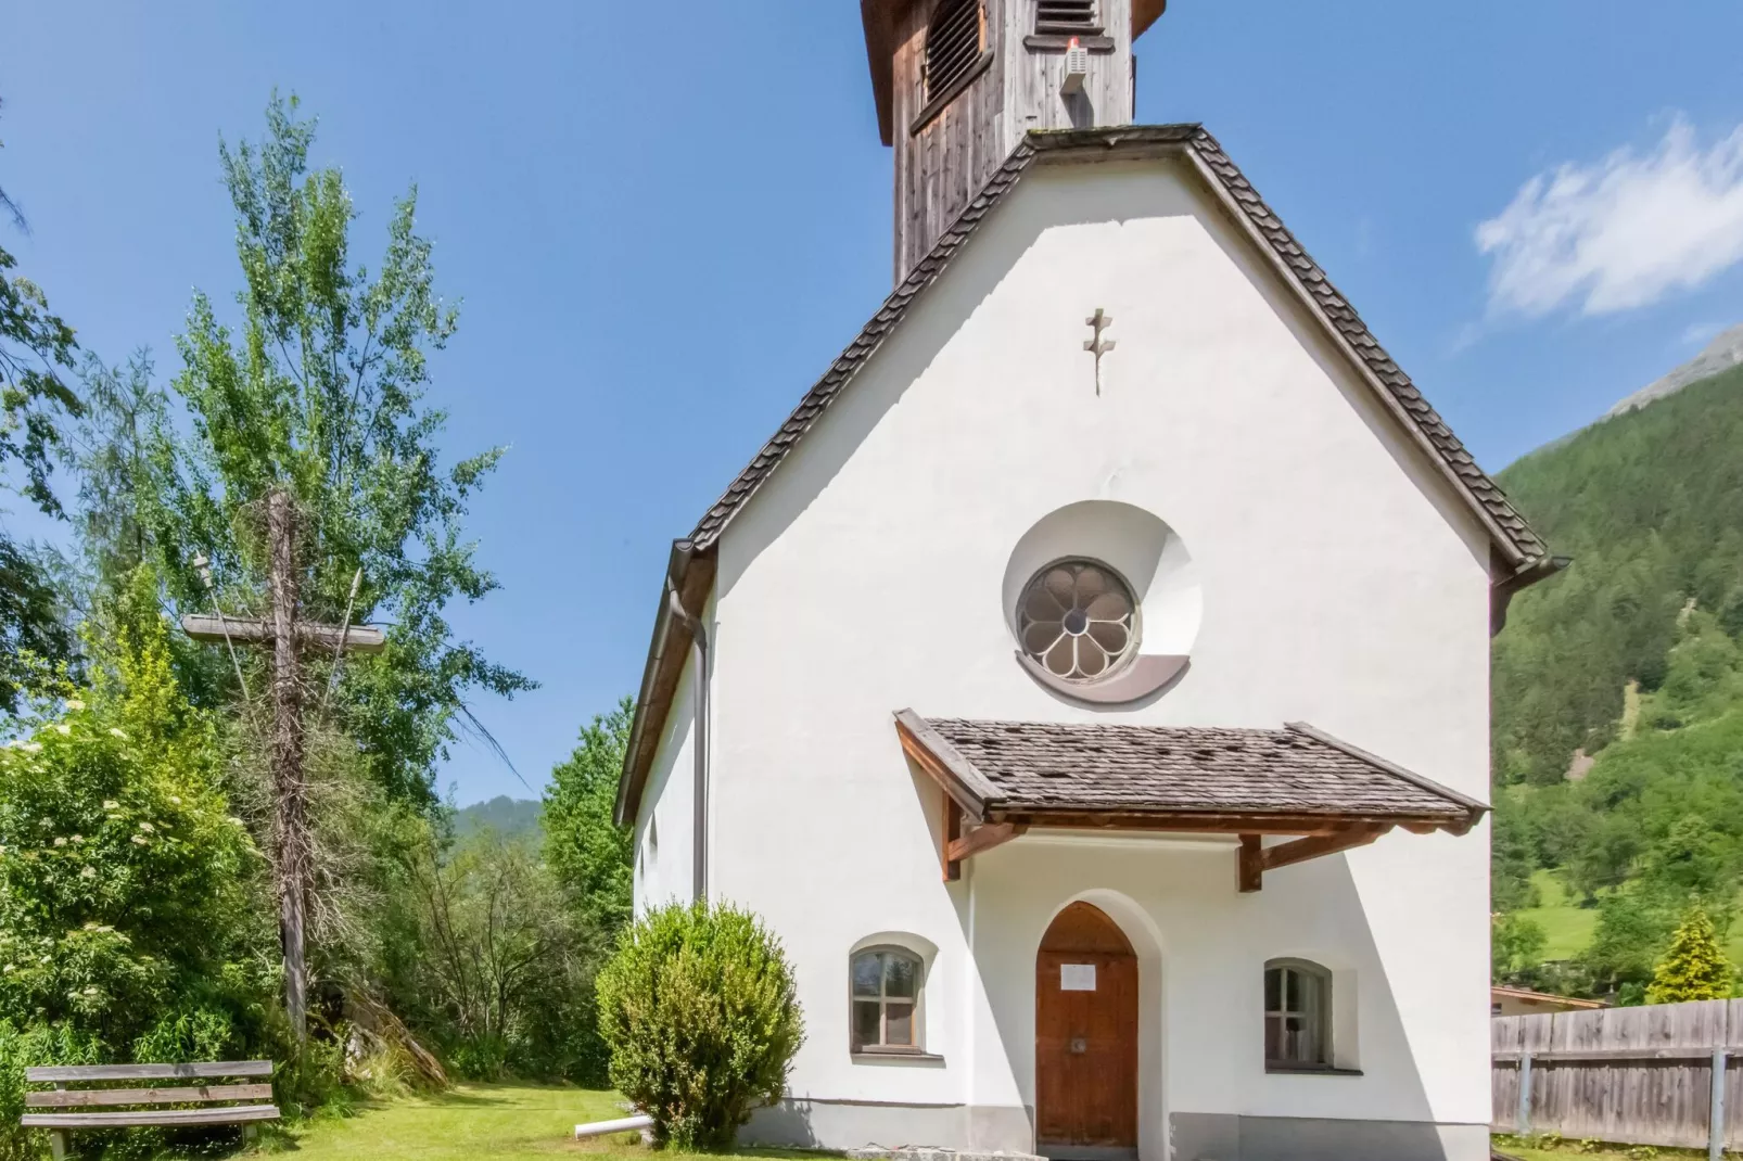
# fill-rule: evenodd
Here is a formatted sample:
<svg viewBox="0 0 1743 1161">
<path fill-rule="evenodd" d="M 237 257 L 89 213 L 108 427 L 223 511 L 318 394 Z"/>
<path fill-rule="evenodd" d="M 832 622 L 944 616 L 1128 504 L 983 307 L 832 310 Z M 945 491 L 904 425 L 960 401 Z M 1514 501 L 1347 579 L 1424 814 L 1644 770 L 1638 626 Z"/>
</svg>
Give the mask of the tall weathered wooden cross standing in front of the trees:
<svg viewBox="0 0 1743 1161">
<path fill-rule="evenodd" d="M 279 936 L 284 945 L 284 1011 L 302 1041 L 309 1032 L 309 968 L 303 954 L 309 906 L 310 837 L 309 784 L 303 781 L 302 648 L 331 648 L 335 661 L 347 650 L 373 654 L 387 645 L 380 629 L 354 628 L 350 605 L 345 624 L 296 619 L 296 504 L 282 488 L 267 497 L 267 539 L 272 544 L 272 615 L 187 615 L 181 629 L 195 642 L 235 647 L 272 647 L 272 838 L 274 877 L 279 889 Z M 361 579 L 361 574 L 359 574 Z M 350 586 L 357 598 L 357 582 Z M 237 669 L 241 675 L 241 669 Z"/>
</svg>

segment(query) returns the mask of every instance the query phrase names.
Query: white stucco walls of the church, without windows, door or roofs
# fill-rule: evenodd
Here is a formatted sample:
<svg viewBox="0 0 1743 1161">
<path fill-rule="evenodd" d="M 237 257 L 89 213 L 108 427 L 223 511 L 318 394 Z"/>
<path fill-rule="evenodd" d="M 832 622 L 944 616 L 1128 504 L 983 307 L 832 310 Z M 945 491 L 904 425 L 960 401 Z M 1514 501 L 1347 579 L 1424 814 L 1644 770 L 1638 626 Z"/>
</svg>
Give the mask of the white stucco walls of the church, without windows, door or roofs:
<svg viewBox="0 0 1743 1161">
<path fill-rule="evenodd" d="M 1096 307 L 1117 342 L 1100 396 L 1082 350 Z M 1061 701 L 1013 659 L 1013 547 L 1091 499 L 1166 521 L 1201 586 L 1189 673 L 1136 710 Z M 795 1096 L 1030 1103 L 1035 945 L 1102 889 L 1156 933 L 1145 1158 L 1163 1156 L 1163 1102 L 1487 1123 L 1487 826 L 1400 832 L 1272 872 L 1255 896 L 1236 893 L 1227 845 L 1046 835 L 946 886 L 938 791 L 891 723 L 903 706 L 1306 720 L 1487 797 L 1485 560 L 1476 521 L 1196 178 L 1173 162 L 1027 176 L 720 544 L 711 882 L 795 959 Z M 643 901 L 687 893 L 688 687 L 638 821 L 638 849 L 652 812 L 673 852 L 640 875 Z M 941 1065 L 847 1051 L 847 954 L 899 931 L 938 948 L 926 1046 Z M 1339 973 L 1339 1055 L 1365 1076 L 1264 1074 L 1260 971 L 1278 955 Z"/>
</svg>

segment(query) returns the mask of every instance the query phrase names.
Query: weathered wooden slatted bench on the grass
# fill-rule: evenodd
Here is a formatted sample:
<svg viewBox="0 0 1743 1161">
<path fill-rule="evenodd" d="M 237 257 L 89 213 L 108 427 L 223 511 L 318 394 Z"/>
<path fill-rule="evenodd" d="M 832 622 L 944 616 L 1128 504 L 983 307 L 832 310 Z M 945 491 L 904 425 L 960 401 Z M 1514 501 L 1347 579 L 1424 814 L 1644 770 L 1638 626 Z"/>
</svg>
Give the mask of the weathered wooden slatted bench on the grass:
<svg viewBox="0 0 1743 1161">
<path fill-rule="evenodd" d="M 225 1060 L 185 1065 L 52 1065 L 24 1069 L 30 1084 L 54 1084 L 54 1091 L 24 1093 L 30 1109 L 19 1117 L 24 1128 L 51 1130 L 49 1144 L 56 1159 L 66 1156 L 66 1130 L 138 1128 L 146 1124 L 242 1124 L 242 1135 L 254 1135 L 256 1121 L 277 1121 L 272 1084 L 197 1084 L 187 1088 L 68 1088 L 96 1081 L 234 1081 L 270 1077 L 270 1060 Z M 251 1103 L 237 1103 L 251 1102 Z M 265 1103 L 258 1103 L 265 1102 Z M 113 1105 L 134 1105 L 115 1109 Z M 162 1109 L 155 1105 L 200 1105 L 199 1109 Z M 91 1109 L 105 1109 L 91 1112 Z"/>
</svg>

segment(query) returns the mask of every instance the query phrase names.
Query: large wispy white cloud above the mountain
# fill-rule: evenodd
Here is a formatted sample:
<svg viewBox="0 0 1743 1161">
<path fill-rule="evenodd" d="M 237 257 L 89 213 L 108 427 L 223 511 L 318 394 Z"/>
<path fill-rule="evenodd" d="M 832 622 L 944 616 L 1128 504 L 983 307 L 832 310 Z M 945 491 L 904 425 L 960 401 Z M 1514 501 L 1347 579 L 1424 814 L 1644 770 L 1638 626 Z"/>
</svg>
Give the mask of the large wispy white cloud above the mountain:
<svg viewBox="0 0 1743 1161">
<path fill-rule="evenodd" d="M 1743 261 L 1743 126 L 1701 150 L 1677 119 L 1651 153 L 1623 148 L 1527 181 L 1476 227 L 1490 312 L 1645 307 Z"/>
</svg>

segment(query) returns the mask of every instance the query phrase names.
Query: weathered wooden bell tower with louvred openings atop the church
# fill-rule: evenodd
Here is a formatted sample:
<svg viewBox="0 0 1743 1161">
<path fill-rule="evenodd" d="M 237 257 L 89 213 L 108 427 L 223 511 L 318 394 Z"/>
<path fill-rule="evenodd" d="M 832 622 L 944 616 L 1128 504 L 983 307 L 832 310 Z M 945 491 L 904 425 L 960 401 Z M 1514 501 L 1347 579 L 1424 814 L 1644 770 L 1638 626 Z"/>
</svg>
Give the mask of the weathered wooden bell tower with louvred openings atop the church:
<svg viewBox="0 0 1743 1161">
<path fill-rule="evenodd" d="M 896 282 L 1030 129 L 1129 126 L 1131 42 L 1166 0 L 859 0 L 884 145 L 896 150 Z"/>
</svg>

